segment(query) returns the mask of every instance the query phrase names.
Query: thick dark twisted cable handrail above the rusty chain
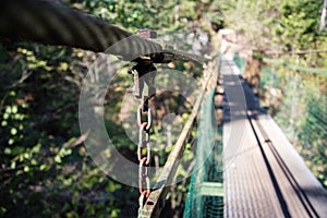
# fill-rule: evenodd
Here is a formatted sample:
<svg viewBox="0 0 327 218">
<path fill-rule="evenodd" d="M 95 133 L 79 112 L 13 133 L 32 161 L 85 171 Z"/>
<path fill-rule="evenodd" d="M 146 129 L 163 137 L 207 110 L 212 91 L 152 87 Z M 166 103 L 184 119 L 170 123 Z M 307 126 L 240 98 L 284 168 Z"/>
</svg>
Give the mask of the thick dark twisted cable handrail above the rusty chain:
<svg viewBox="0 0 327 218">
<path fill-rule="evenodd" d="M 167 49 L 158 41 L 129 33 L 106 20 L 56 1 L 2 0 L 0 5 L 0 40 L 69 46 L 111 53 L 129 61 L 141 56 L 149 56 L 156 63 L 206 61 L 195 55 Z M 118 45 L 119 41 L 122 43 Z"/>
</svg>

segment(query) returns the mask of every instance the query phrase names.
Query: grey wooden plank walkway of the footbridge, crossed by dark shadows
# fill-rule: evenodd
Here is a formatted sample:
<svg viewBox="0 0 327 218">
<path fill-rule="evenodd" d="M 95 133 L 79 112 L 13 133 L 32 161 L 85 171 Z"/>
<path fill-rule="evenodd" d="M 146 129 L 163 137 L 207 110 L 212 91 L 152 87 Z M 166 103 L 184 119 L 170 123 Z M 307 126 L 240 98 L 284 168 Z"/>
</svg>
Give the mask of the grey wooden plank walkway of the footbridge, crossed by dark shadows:
<svg viewBox="0 0 327 218">
<path fill-rule="evenodd" d="M 327 217 L 327 192 L 233 61 L 222 60 L 225 216 Z"/>
</svg>

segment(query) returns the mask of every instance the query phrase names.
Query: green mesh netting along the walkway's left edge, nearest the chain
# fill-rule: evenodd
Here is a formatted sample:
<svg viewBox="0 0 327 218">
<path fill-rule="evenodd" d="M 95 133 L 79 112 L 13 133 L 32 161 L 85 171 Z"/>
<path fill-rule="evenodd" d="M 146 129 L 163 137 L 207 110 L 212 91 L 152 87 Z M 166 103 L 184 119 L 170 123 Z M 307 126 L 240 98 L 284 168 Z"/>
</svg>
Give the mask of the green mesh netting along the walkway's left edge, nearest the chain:
<svg viewBox="0 0 327 218">
<path fill-rule="evenodd" d="M 223 216 L 223 198 L 208 196 L 204 192 L 204 190 L 209 192 L 222 190 L 222 143 L 219 140 L 219 136 L 221 138 L 221 129 L 218 129 L 217 125 L 214 95 L 215 89 L 205 101 L 201 113 L 196 160 L 189 187 L 184 218 Z"/>
</svg>

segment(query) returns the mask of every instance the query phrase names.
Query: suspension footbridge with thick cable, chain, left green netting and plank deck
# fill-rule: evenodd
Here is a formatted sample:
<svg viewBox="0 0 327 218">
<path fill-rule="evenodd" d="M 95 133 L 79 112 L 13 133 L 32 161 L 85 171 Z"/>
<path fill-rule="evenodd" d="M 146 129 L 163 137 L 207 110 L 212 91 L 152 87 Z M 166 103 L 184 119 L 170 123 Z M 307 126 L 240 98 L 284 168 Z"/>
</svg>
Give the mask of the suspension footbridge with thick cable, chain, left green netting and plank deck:
<svg viewBox="0 0 327 218">
<path fill-rule="evenodd" d="M 16 4 L 21 5 L 20 12 L 25 17 L 35 22 L 19 19 L 21 13 L 13 13 Z M 1 20 L 15 25 L 1 26 L 2 38 L 102 52 L 129 37 L 124 47 L 114 47 L 110 53 L 143 66 L 172 60 L 205 61 L 202 57 L 164 48 L 162 45 L 57 3 L 14 0 L 5 1 L 3 5 L 5 13 Z M 43 12 L 35 13 L 39 8 Z M 28 26 L 31 24 L 33 26 Z M 35 29 L 35 25 L 38 32 L 31 31 Z M 22 33 L 21 29 L 27 31 Z M 62 34 L 62 29 L 65 34 Z M 76 31 L 78 34 L 74 33 Z M 53 35 L 57 37 L 53 38 Z M 201 95 L 158 180 L 145 191 L 141 189 L 138 217 L 160 217 L 168 186 L 185 149 L 186 136 L 199 113 L 195 170 L 185 201 L 185 218 L 326 217 L 326 190 L 274 119 L 263 110 L 257 96 L 242 78 L 240 69 L 232 59 L 223 56 L 217 64 L 219 70 L 205 78 Z M 325 71 L 318 71 L 322 72 Z M 223 99 L 218 106 L 216 96 Z M 223 114 L 222 125 L 216 119 L 219 110 Z M 143 124 L 141 122 L 140 125 L 148 131 L 145 128 L 147 124 Z M 220 140 L 216 138 L 219 131 L 222 135 Z M 143 170 L 149 160 L 140 158 L 140 161 Z M 142 172 L 140 177 L 143 183 Z"/>
</svg>

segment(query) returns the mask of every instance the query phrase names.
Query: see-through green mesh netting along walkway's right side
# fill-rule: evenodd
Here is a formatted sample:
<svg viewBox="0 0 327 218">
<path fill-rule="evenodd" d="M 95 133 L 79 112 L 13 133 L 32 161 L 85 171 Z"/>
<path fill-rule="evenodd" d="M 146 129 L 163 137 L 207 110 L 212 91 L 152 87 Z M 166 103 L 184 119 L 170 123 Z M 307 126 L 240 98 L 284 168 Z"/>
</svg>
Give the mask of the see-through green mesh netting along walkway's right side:
<svg viewBox="0 0 327 218">
<path fill-rule="evenodd" d="M 240 59 L 235 56 L 235 63 L 242 68 L 244 60 Z M 327 187 L 327 75 L 288 65 L 274 61 L 262 68 L 261 105 Z"/>
</svg>

